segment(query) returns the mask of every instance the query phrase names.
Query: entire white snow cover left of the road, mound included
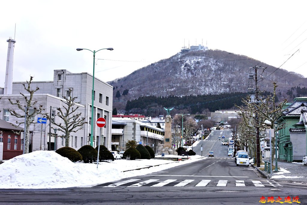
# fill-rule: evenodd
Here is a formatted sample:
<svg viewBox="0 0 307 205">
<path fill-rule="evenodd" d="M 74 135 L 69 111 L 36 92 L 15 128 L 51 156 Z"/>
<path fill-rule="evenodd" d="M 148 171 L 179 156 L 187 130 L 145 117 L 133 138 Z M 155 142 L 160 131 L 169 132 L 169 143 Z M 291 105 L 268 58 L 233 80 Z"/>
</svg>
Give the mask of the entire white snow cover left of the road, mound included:
<svg viewBox="0 0 307 205">
<path fill-rule="evenodd" d="M 191 159 L 185 161 L 114 160 L 99 162 L 97 168 L 97 164 L 73 163 L 53 151 L 35 151 L 16 156 L 0 164 L 0 189 L 91 187 L 161 171 L 204 158 L 199 155 L 189 157 Z"/>
</svg>

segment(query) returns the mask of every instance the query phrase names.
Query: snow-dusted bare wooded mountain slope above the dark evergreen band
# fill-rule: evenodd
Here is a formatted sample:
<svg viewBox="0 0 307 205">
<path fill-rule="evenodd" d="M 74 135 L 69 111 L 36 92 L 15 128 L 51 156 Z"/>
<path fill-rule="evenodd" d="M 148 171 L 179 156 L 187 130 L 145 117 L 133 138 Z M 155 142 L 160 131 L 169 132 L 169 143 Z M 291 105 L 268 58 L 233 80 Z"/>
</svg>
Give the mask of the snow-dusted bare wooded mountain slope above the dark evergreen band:
<svg viewBox="0 0 307 205">
<path fill-rule="evenodd" d="M 248 78 L 249 73 L 255 73 L 250 69 L 255 65 L 267 67 L 258 69 L 259 88 L 272 92 L 272 82 L 277 82 L 277 95 L 281 100 L 292 101 L 289 90 L 307 85 L 307 79 L 301 74 L 277 69 L 247 56 L 221 50 L 182 51 L 108 82 L 114 86 L 113 108 L 124 110 L 128 100 L 141 96 L 246 93 L 249 85 L 255 86 L 255 81 Z"/>
</svg>

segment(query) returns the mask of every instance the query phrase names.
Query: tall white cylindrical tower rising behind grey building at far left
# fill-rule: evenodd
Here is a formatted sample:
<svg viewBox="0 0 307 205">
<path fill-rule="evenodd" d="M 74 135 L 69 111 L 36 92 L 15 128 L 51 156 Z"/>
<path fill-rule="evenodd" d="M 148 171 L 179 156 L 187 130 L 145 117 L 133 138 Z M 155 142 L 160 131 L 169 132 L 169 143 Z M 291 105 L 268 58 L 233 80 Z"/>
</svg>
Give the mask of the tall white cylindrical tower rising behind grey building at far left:
<svg viewBox="0 0 307 205">
<path fill-rule="evenodd" d="M 7 60 L 6 60 L 6 75 L 5 75 L 5 85 L 3 94 L 12 94 L 13 89 L 13 57 L 14 57 L 14 46 L 15 40 L 8 39 L 9 42 L 7 49 Z"/>
</svg>

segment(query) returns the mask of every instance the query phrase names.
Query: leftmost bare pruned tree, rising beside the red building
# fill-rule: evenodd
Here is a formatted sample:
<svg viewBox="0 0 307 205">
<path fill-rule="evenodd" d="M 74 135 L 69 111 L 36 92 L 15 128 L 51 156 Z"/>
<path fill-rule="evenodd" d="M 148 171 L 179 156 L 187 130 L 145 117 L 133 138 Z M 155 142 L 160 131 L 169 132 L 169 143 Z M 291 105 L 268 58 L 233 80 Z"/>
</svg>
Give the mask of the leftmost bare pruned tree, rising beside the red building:
<svg viewBox="0 0 307 205">
<path fill-rule="evenodd" d="M 33 94 L 37 90 L 39 90 L 39 88 L 36 87 L 35 90 L 31 89 L 32 80 L 33 80 L 33 77 L 30 76 L 30 81 L 27 81 L 27 84 L 28 84 L 27 87 L 25 86 L 25 84 L 22 84 L 24 86 L 25 90 L 30 94 L 30 96 L 25 96 L 25 94 L 20 92 L 20 94 L 25 99 L 25 103 L 21 103 L 19 100 L 16 100 L 16 103 L 13 103 L 13 101 L 11 101 L 10 98 L 8 99 L 12 105 L 17 105 L 17 107 L 22 111 L 22 113 L 25 113 L 25 114 L 19 114 L 14 109 L 9 109 L 9 112 L 10 112 L 11 115 L 18 117 L 18 118 L 25 118 L 25 122 L 17 122 L 16 121 L 17 125 L 14 125 L 14 126 L 18 127 L 21 124 L 25 124 L 24 125 L 25 130 L 26 130 L 26 132 L 24 133 L 24 140 L 25 140 L 24 151 L 25 151 L 25 154 L 29 153 L 29 134 L 30 134 L 29 127 L 30 127 L 30 124 L 35 123 L 31 119 L 38 114 L 42 114 L 42 111 L 45 110 L 43 108 L 43 105 L 39 105 L 38 107 L 35 107 L 37 101 L 33 102 Z M 30 112 L 30 109 L 31 109 L 31 112 Z"/>
</svg>

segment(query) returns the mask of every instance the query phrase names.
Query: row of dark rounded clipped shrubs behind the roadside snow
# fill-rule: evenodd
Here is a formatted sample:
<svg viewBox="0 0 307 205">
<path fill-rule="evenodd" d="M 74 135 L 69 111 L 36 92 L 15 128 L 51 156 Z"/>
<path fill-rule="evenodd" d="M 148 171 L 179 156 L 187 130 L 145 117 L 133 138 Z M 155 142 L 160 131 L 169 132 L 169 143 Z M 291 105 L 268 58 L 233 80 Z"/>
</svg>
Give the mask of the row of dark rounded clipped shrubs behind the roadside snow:
<svg viewBox="0 0 307 205">
<path fill-rule="evenodd" d="M 84 163 L 92 163 L 97 161 L 98 155 L 98 146 L 93 148 L 90 145 L 84 145 L 78 151 L 70 147 L 62 147 L 56 150 L 56 153 L 63 157 L 67 157 L 72 162 L 84 161 Z M 124 159 L 136 160 L 136 159 L 148 159 L 154 158 L 155 154 L 153 149 L 146 145 L 145 147 L 142 144 L 139 144 L 134 147 L 128 148 L 124 154 Z M 112 160 L 114 161 L 113 154 L 103 145 L 100 145 L 99 148 L 99 162 L 103 160 Z"/>
</svg>

